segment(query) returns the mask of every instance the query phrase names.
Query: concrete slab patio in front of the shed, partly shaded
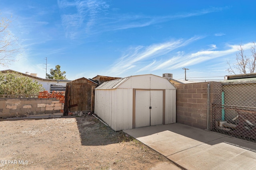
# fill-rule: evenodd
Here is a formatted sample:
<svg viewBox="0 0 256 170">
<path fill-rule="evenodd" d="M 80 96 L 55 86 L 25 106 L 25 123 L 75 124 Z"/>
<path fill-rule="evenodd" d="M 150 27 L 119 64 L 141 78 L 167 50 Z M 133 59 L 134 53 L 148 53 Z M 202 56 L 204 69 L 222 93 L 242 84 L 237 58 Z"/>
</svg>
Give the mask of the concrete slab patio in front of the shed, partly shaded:
<svg viewBox="0 0 256 170">
<path fill-rule="evenodd" d="M 124 130 L 182 169 L 256 169 L 256 143 L 180 123 Z"/>
</svg>

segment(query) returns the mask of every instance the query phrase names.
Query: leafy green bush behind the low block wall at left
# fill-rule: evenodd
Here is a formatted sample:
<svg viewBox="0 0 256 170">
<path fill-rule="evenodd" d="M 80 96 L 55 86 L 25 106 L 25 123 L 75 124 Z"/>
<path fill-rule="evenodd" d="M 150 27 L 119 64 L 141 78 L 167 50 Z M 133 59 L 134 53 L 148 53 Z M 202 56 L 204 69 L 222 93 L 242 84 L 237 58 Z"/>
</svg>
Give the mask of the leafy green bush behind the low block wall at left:
<svg viewBox="0 0 256 170">
<path fill-rule="evenodd" d="M 39 94 L 43 85 L 19 73 L 0 72 L 0 94 Z"/>
</svg>

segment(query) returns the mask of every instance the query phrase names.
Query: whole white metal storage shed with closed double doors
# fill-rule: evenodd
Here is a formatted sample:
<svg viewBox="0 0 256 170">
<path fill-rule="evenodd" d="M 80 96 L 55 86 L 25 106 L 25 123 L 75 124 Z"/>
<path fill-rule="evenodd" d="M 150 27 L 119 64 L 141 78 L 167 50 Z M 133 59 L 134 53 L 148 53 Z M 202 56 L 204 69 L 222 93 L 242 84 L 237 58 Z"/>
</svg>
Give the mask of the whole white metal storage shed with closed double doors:
<svg viewBox="0 0 256 170">
<path fill-rule="evenodd" d="M 176 88 L 153 74 L 104 82 L 95 89 L 95 113 L 115 131 L 176 123 Z"/>
</svg>

